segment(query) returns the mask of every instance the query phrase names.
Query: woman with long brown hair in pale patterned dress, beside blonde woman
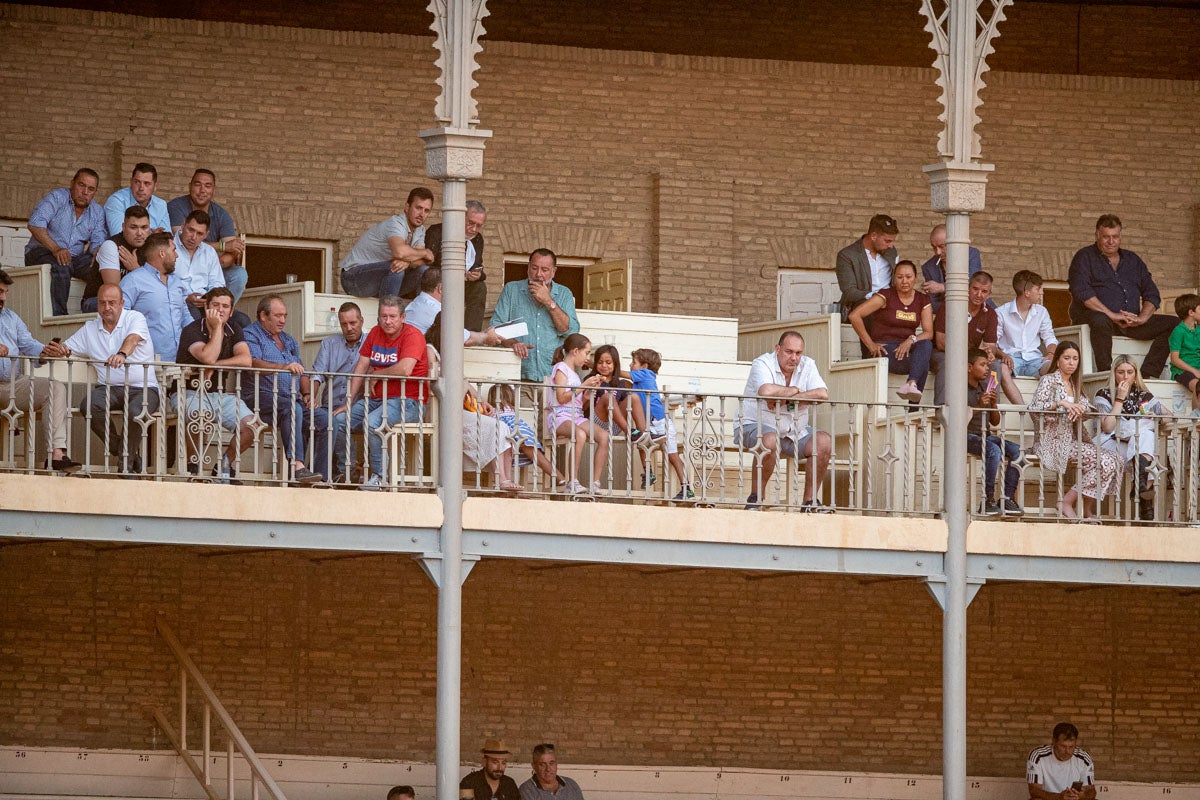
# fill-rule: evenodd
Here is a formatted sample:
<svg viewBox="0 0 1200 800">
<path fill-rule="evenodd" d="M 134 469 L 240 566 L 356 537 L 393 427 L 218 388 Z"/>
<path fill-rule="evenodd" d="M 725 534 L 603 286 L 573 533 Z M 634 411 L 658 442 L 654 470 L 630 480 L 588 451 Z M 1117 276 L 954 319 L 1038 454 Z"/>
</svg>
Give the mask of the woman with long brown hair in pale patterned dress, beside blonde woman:
<svg viewBox="0 0 1200 800">
<path fill-rule="evenodd" d="M 1034 416 L 1038 439 L 1033 451 L 1042 459 L 1042 468 L 1051 473 L 1064 473 L 1070 462 L 1079 469 L 1079 481 L 1058 500 L 1058 513 L 1076 519 L 1075 503 L 1084 495 L 1084 516 L 1092 516 L 1096 500 L 1114 494 L 1117 489 L 1117 459 L 1088 440 L 1084 427 L 1087 401 L 1084 398 L 1079 362 L 1079 345 L 1061 342 L 1055 350 L 1050 373 L 1038 381 L 1038 389 L 1030 403 Z M 1079 433 L 1076 433 L 1076 431 Z"/>
</svg>

